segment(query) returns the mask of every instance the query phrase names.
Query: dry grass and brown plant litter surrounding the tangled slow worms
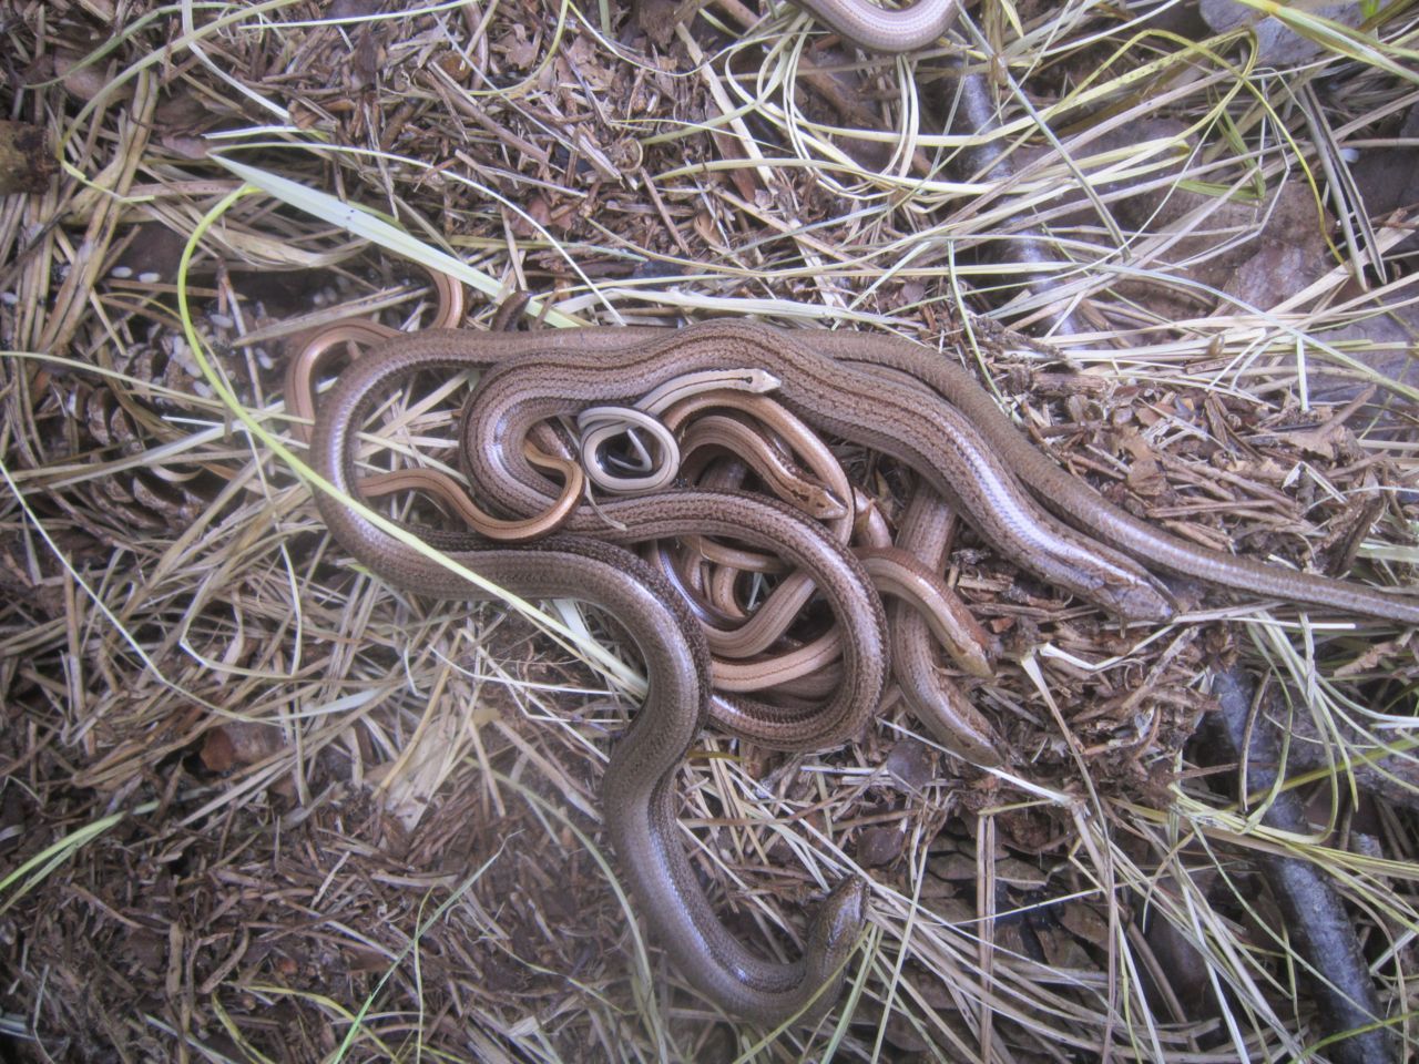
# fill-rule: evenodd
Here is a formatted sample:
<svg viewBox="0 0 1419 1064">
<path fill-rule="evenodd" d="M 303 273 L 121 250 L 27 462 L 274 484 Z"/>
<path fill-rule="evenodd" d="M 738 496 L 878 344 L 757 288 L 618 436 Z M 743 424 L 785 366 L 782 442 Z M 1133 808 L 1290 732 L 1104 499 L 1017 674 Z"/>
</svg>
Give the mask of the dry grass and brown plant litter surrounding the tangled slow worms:
<svg viewBox="0 0 1419 1064">
<path fill-rule="evenodd" d="M 681 989 L 612 874 L 596 789 L 636 674 L 602 620 L 370 580 L 277 450 L 282 340 L 416 328 L 414 260 L 490 297 L 475 322 L 524 289 L 549 325 L 898 332 L 1181 535 L 1412 586 L 1413 213 L 1366 210 L 1354 157 L 1403 150 L 1419 101 L 1398 9 L 1288 10 L 1321 47 L 1276 71 L 1243 31 L 986 4 L 978 133 L 959 48 L 864 61 L 792 9 L 738 37 L 752 13 L 711 3 L 657 48 L 528 0 L 0 7 L 0 98 L 62 166 L 0 199 L 6 1053 L 1286 1057 L 1317 1034 L 1247 860 L 1277 848 L 1334 874 L 1412 1044 L 1410 634 L 1215 599 L 1120 631 L 959 552 L 1013 653 L 972 692 L 1006 772 L 888 705 L 826 755 L 707 735 L 683 773 L 746 939 L 792 955 L 832 882 L 874 884 L 853 1021 L 765 1037 Z M 1012 176 L 976 173 L 988 143 Z M 1017 254 L 1040 223 L 1057 268 Z M 1066 309 L 1056 346 L 998 323 Z M 1189 745 L 1235 655 L 1290 692 L 1313 834 Z"/>
</svg>

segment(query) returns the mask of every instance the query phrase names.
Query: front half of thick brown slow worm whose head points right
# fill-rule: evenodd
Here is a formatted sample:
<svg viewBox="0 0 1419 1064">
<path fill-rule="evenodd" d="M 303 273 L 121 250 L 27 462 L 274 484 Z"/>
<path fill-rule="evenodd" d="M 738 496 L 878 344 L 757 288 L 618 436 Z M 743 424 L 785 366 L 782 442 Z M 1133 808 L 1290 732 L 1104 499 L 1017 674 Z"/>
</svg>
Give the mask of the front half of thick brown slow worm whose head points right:
<svg viewBox="0 0 1419 1064">
<path fill-rule="evenodd" d="M 406 358 L 485 358 L 482 340 L 481 333 L 427 332 L 399 348 Z M 535 423 L 595 403 L 627 401 L 680 373 L 759 366 L 782 380 L 779 396 L 789 410 L 917 470 L 1017 565 L 1131 620 L 1172 614 L 1137 562 L 1043 514 L 952 406 L 925 389 L 826 358 L 810 343 L 782 329 L 714 321 L 602 355 L 558 349 L 555 373 L 548 372 L 546 353 L 502 363 L 464 409 L 464 461 L 498 505 L 538 514 L 548 505 L 545 481 L 521 454 Z M 568 528 L 590 532 L 599 523 L 583 508 Z"/>
</svg>

